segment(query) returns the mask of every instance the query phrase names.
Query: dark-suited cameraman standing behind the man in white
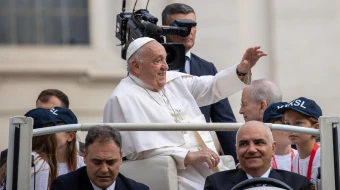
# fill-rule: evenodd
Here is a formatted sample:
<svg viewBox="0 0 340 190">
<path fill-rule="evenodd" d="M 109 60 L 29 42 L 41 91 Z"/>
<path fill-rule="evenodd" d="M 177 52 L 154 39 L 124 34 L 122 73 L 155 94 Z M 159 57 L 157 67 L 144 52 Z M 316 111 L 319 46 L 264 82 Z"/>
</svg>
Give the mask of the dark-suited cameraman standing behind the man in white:
<svg viewBox="0 0 340 190">
<path fill-rule="evenodd" d="M 162 24 L 169 25 L 176 19 L 190 19 L 196 21 L 196 15 L 193 8 L 186 4 L 174 3 L 165 7 L 162 12 Z M 185 47 L 186 63 L 184 72 L 195 75 L 215 75 L 216 67 L 213 63 L 208 62 L 190 52 L 195 44 L 196 27 L 191 28 L 190 35 L 187 37 L 167 36 L 166 42 L 182 43 Z M 236 71 L 235 71 L 236 72 Z M 234 123 L 236 122 L 234 113 L 230 107 L 228 98 L 223 99 L 215 104 L 200 108 L 205 116 L 206 121 L 216 123 Z M 222 146 L 225 155 L 232 155 L 236 160 L 235 151 L 235 131 L 216 131 L 216 135 Z"/>
</svg>

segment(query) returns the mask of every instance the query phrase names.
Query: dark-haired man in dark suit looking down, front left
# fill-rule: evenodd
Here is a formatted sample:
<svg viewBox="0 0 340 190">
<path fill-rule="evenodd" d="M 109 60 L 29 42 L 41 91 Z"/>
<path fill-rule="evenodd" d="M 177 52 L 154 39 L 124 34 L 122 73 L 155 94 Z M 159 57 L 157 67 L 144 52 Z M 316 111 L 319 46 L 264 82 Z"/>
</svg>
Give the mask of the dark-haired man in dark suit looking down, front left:
<svg viewBox="0 0 340 190">
<path fill-rule="evenodd" d="M 121 140 L 116 129 L 92 127 L 85 139 L 86 166 L 56 178 L 51 190 L 148 190 L 146 185 L 119 173 Z"/>
</svg>

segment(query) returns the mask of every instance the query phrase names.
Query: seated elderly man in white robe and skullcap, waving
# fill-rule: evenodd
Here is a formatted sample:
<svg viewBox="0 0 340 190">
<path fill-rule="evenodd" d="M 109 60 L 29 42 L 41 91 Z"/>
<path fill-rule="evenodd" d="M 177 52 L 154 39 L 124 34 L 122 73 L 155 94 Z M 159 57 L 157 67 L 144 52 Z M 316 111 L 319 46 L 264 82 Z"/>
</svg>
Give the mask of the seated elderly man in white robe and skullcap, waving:
<svg viewBox="0 0 340 190">
<path fill-rule="evenodd" d="M 156 40 L 137 38 L 128 47 L 129 75 L 113 91 L 105 123 L 206 123 L 199 106 L 210 105 L 249 84 L 251 68 L 266 56 L 249 48 L 241 63 L 215 76 L 167 71 L 166 51 Z M 243 74 L 237 74 L 243 73 Z M 243 82 L 246 81 L 246 84 Z M 208 131 L 122 131 L 123 156 L 130 160 L 170 155 L 179 189 L 203 189 L 206 176 L 226 168 Z"/>
</svg>

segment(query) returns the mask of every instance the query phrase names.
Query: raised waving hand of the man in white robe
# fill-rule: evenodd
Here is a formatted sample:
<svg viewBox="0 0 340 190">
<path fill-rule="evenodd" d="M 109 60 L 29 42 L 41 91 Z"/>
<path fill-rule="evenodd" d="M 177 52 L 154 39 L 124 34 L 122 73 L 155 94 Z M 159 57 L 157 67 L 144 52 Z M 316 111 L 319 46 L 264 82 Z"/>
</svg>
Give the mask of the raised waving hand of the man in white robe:
<svg viewBox="0 0 340 190">
<path fill-rule="evenodd" d="M 244 53 L 241 63 L 237 65 L 237 71 L 240 73 L 248 73 L 256 64 L 260 57 L 267 56 L 267 53 L 260 50 L 260 46 L 248 48 Z"/>
</svg>

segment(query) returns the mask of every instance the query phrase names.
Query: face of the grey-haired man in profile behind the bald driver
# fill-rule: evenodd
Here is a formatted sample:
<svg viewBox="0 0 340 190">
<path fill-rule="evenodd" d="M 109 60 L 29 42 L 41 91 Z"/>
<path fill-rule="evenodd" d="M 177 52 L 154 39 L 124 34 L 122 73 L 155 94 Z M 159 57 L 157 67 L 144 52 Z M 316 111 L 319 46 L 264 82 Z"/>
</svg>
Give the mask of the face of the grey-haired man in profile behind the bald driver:
<svg viewBox="0 0 340 190">
<path fill-rule="evenodd" d="M 239 113 L 243 115 L 244 121 L 262 121 L 266 108 L 263 108 L 261 103 L 251 99 L 249 89 L 243 90 Z"/>
</svg>

